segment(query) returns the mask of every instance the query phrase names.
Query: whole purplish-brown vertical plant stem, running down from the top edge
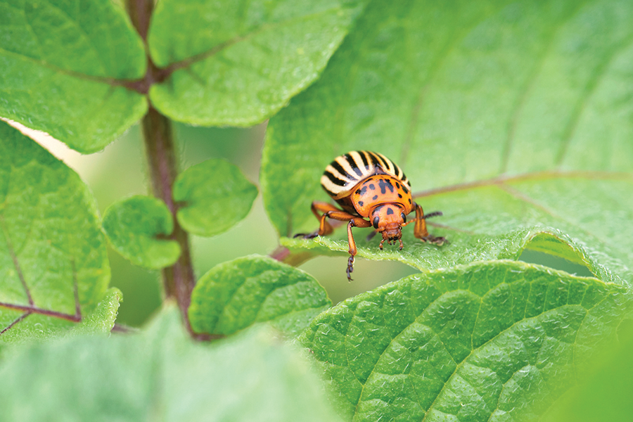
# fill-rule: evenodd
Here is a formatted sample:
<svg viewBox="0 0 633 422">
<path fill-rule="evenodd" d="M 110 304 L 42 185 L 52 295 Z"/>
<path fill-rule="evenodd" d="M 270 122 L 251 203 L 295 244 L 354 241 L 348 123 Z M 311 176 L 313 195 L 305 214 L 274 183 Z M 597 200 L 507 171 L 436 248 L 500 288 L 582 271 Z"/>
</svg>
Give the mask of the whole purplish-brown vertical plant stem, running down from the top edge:
<svg viewBox="0 0 633 422">
<path fill-rule="evenodd" d="M 126 3 L 127 13 L 129 13 L 130 20 L 132 20 L 132 25 L 136 27 L 143 41 L 146 41 L 154 1 L 127 0 Z M 160 72 L 149 56 L 147 61 L 148 70 L 142 81 L 146 85 L 146 91 L 156 80 L 158 72 Z M 172 213 L 174 231 L 168 238 L 177 241 L 181 249 L 178 261 L 172 267 L 161 270 L 165 296 L 166 298 L 175 298 L 177 300 L 183 319 L 186 321 L 186 326 L 191 333 L 187 309 L 191 302 L 191 291 L 193 286 L 196 285 L 196 279 L 191 264 L 189 238 L 186 231 L 178 224 L 178 219 L 176 218 L 178 207 L 172 198 L 172 188 L 178 174 L 178 160 L 176 149 L 174 148 L 172 123 L 167 117 L 158 113 L 158 110 L 150 104 L 148 113 L 143 117 L 142 126 L 152 191 L 154 196 L 165 202 Z"/>
</svg>

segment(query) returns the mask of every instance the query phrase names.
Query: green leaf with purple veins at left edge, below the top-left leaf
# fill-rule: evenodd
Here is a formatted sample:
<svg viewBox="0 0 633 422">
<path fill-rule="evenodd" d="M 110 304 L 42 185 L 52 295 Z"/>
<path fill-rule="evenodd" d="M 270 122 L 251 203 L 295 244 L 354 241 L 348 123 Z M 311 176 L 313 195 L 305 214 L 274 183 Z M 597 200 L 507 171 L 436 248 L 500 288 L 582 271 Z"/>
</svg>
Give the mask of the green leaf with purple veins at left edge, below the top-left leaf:
<svg viewBox="0 0 633 422">
<path fill-rule="evenodd" d="M 96 213 L 75 172 L 0 122 L 0 342 L 64 331 L 103 300 L 110 267 Z"/>
</svg>

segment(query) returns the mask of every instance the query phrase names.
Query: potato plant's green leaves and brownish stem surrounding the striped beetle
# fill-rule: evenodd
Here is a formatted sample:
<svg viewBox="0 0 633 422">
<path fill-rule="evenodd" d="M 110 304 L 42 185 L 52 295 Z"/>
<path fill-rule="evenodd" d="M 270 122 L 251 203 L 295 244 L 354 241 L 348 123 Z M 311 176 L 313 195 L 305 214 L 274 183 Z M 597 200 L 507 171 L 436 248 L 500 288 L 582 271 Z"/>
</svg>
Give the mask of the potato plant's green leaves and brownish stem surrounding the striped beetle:
<svg viewBox="0 0 633 422">
<path fill-rule="evenodd" d="M 632 39 L 627 0 L 0 0 L 0 419 L 554 417 L 632 311 Z M 257 183 L 178 168 L 172 122 L 265 120 Z M 139 123 L 151 195 L 101 218 L 12 122 L 84 154 Z M 357 266 L 416 274 L 332 304 L 295 267 L 347 255 L 345 230 L 293 235 L 352 150 L 402 167 L 449 243 L 358 230 Z M 197 274 L 190 236 L 260 194 L 280 248 Z M 160 269 L 138 332 L 118 333 L 108 244 Z"/>
</svg>

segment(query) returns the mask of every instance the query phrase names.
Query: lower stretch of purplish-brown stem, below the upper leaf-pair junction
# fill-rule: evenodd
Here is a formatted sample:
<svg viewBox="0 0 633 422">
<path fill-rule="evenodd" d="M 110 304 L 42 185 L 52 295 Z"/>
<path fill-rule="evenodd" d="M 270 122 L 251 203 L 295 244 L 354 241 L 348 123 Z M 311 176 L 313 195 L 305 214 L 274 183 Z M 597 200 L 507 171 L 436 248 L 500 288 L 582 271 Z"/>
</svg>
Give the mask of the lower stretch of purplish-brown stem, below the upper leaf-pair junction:
<svg viewBox="0 0 633 422">
<path fill-rule="evenodd" d="M 181 255 L 172 267 L 161 270 L 167 298 L 175 298 L 187 321 L 187 308 L 191 301 L 191 291 L 196 285 L 191 264 L 191 252 L 187 232 L 178 224 L 178 206 L 172 198 L 172 186 L 177 175 L 176 151 L 172 136 L 172 123 L 167 117 L 150 107 L 143 117 L 143 139 L 149 163 L 149 173 L 154 196 L 162 199 L 174 218 L 174 231 L 169 236 L 177 241 Z"/>
</svg>

